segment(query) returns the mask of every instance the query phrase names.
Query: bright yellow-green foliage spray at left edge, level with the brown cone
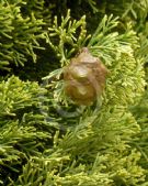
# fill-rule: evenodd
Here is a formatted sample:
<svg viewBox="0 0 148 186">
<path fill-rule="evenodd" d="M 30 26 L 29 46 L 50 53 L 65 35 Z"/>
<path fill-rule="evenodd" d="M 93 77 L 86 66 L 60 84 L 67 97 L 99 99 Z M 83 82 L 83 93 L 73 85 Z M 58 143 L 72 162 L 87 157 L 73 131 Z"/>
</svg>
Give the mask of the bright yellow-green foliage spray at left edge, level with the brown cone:
<svg viewBox="0 0 148 186">
<path fill-rule="evenodd" d="M 45 91 L 36 83 L 22 83 L 12 76 L 0 84 L 0 117 L 15 116 L 19 110 L 38 105 L 38 91 Z M 32 100 L 32 101 L 31 101 Z"/>
</svg>

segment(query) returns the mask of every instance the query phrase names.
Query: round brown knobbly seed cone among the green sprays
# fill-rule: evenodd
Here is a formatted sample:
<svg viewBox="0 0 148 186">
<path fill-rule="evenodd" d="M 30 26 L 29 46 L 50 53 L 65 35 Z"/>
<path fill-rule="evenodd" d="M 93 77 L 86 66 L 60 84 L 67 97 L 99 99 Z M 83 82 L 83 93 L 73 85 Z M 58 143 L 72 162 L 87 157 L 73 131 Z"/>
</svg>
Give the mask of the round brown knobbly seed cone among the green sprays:
<svg viewBox="0 0 148 186">
<path fill-rule="evenodd" d="M 107 72 L 101 61 L 83 47 L 64 70 L 66 95 L 78 105 L 91 105 L 101 96 Z"/>
</svg>

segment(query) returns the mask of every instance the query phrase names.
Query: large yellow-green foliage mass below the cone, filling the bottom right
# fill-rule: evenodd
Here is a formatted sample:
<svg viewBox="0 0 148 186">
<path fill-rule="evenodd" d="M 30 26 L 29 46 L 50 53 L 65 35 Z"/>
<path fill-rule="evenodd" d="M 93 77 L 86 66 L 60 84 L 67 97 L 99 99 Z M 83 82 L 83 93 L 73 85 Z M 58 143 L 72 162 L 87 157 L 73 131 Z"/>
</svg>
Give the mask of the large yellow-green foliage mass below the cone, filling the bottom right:
<svg viewBox="0 0 148 186">
<path fill-rule="evenodd" d="M 128 144 L 139 128 L 130 113 L 123 112 L 116 109 L 95 122 L 96 116 L 90 113 L 64 139 L 57 132 L 53 150 L 29 160 L 13 185 L 140 185 L 145 178 L 137 165 L 140 153 Z"/>
</svg>

